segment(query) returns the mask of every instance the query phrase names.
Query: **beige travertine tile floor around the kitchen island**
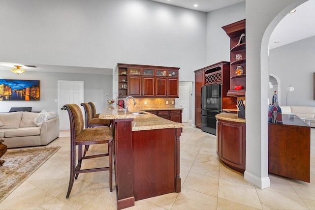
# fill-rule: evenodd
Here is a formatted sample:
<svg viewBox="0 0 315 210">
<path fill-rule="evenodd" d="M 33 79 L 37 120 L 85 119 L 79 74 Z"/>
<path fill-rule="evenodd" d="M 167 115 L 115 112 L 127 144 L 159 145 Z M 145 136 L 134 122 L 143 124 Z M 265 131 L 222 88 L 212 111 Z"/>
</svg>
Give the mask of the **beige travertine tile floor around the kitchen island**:
<svg viewBox="0 0 315 210">
<path fill-rule="evenodd" d="M 70 197 L 69 131 L 49 146 L 61 146 L 49 160 L 13 191 L 0 210 L 105 210 L 116 209 L 116 191 L 109 191 L 108 171 L 80 174 Z M 216 137 L 185 123 L 181 136 L 181 193 L 136 201 L 130 210 L 247 210 L 315 209 L 315 128 L 311 130 L 311 183 L 270 174 L 271 186 L 259 189 L 222 164 Z M 99 152 L 100 147 L 91 147 Z M 107 157 L 106 157 L 107 158 Z M 106 159 L 105 161 L 108 161 Z M 104 159 L 89 165 L 104 164 Z"/>
</svg>

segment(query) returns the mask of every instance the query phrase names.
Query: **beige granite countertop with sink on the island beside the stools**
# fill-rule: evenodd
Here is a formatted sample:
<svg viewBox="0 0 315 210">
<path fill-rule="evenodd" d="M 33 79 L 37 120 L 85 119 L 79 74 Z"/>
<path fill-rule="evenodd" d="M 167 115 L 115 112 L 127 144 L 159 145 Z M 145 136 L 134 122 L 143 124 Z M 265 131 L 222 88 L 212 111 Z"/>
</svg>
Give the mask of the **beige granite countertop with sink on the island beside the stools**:
<svg viewBox="0 0 315 210">
<path fill-rule="evenodd" d="M 107 120 L 133 119 L 133 121 L 131 122 L 132 131 L 184 127 L 184 124 L 182 123 L 166 120 L 145 111 L 141 111 L 143 113 L 146 113 L 145 115 L 133 115 L 132 112 L 140 112 L 140 110 L 132 109 L 126 111 L 125 114 L 125 109 L 123 109 L 122 107 L 110 106 L 106 107 L 103 112 L 100 113 L 99 118 Z"/>
</svg>

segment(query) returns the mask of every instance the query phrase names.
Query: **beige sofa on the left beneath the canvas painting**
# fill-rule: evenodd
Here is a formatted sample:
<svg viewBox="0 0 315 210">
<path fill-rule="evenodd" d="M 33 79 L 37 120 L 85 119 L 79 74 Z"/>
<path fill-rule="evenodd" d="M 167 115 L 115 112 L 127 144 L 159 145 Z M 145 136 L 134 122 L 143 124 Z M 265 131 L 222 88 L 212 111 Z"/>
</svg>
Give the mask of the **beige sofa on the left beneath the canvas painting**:
<svg viewBox="0 0 315 210">
<path fill-rule="evenodd" d="M 37 126 L 33 120 L 40 113 L 12 112 L 0 113 L 0 139 L 8 148 L 47 145 L 59 136 L 59 119 L 55 118 Z M 37 123 L 37 122 L 36 122 Z"/>
</svg>

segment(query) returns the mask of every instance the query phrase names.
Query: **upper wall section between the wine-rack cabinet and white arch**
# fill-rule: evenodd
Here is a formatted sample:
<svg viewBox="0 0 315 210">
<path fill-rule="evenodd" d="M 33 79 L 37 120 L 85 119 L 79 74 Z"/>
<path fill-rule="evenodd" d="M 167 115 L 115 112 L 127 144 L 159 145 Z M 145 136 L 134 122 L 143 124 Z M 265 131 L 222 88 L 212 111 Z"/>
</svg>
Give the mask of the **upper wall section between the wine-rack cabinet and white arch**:
<svg viewBox="0 0 315 210">
<path fill-rule="evenodd" d="M 222 26 L 245 19 L 245 2 L 207 13 L 206 65 L 230 61 L 230 38 Z"/>
</svg>

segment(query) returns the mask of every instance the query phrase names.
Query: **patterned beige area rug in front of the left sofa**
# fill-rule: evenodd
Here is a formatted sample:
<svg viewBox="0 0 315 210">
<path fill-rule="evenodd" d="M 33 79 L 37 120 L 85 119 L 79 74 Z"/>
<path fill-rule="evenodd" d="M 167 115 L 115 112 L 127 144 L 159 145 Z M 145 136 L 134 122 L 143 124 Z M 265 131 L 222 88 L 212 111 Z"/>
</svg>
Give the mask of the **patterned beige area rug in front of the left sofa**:
<svg viewBox="0 0 315 210">
<path fill-rule="evenodd" d="M 0 203 L 59 149 L 8 150 L 1 157 L 5 162 L 0 167 Z"/>
</svg>

